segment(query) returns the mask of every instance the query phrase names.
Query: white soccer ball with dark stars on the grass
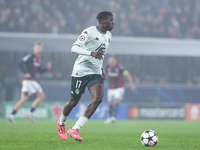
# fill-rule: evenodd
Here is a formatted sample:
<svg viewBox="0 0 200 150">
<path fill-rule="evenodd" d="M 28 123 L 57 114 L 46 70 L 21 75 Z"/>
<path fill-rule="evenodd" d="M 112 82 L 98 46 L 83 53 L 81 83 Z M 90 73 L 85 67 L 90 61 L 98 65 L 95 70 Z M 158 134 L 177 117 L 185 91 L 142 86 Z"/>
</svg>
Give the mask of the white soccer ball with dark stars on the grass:
<svg viewBox="0 0 200 150">
<path fill-rule="evenodd" d="M 141 135 L 141 142 L 144 146 L 155 146 L 158 143 L 158 135 L 153 130 L 144 131 Z"/>
</svg>

